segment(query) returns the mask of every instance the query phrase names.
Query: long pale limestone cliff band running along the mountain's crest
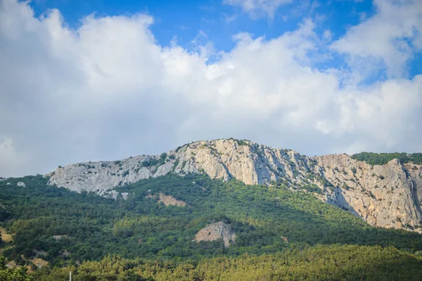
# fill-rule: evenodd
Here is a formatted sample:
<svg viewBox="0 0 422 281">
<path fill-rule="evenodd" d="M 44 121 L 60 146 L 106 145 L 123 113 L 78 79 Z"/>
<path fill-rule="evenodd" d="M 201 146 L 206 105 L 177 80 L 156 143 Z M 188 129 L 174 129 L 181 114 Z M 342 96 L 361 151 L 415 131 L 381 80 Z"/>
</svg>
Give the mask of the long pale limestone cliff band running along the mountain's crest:
<svg viewBox="0 0 422 281">
<path fill-rule="evenodd" d="M 222 139 L 189 143 L 162 155 L 70 164 L 48 176 L 60 187 L 115 198 L 118 193 L 113 188 L 118 185 L 167 173 L 206 173 L 246 184 L 283 185 L 313 192 L 372 226 L 422 232 L 422 166 L 400 164 L 397 159 L 371 166 L 344 154 L 306 157 L 293 150 Z"/>
</svg>

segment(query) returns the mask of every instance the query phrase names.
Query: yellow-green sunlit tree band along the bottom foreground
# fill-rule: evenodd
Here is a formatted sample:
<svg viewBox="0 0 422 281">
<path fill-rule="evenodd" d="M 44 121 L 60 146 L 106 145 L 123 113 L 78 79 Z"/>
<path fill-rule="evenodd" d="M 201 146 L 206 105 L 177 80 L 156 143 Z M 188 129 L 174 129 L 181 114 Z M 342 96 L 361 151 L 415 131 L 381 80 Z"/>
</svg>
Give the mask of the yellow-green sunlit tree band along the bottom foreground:
<svg viewBox="0 0 422 281">
<path fill-rule="evenodd" d="M 127 260 L 108 256 L 78 268 L 41 270 L 41 280 L 420 280 L 422 258 L 395 248 L 356 245 L 288 247 L 277 254 L 198 262 Z M 41 275 L 41 273 L 43 273 Z M 49 276 L 50 275 L 50 276 Z M 49 277 L 47 277 L 49 276 Z M 54 276 L 54 277 L 53 277 Z"/>
</svg>

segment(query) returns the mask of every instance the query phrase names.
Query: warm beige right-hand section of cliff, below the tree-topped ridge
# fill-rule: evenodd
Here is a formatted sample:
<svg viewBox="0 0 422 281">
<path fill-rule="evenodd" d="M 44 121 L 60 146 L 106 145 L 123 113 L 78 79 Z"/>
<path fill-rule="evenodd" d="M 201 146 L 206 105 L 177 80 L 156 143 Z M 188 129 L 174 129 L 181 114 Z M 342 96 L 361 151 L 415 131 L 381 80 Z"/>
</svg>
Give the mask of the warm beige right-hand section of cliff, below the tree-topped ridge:
<svg viewBox="0 0 422 281">
<path fill-rule="evenodd" d="M 320 173 L 335 188 L 331 204 L 352 211 L 372 226 L 414 228 L 421 225 L 421 166 L 358 162 L 348 155 L 316 157 Z M 421 232 L 421 228 L 416 229 Z"/>
</svg>

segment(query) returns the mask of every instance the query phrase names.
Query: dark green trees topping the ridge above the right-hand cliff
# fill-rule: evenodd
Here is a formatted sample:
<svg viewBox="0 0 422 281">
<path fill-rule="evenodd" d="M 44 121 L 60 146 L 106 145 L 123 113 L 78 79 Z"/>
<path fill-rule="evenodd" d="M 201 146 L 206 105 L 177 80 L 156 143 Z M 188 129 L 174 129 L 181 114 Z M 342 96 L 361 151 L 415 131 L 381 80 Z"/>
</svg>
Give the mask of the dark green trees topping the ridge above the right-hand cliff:
<svg viewBox="0 0 422 281">
<path fill-rule="evenodd" d="M 366 162 L 371 165 L 384 165 L 390 162 L 392 159 L 399 159 L 402 164 L 412 162 L 414 164 L 422 164 L 422 153 L 373 153 L 373 152 L 361 152 L 352 155 L 353 159 L 358 161 Z"/>
</svg>

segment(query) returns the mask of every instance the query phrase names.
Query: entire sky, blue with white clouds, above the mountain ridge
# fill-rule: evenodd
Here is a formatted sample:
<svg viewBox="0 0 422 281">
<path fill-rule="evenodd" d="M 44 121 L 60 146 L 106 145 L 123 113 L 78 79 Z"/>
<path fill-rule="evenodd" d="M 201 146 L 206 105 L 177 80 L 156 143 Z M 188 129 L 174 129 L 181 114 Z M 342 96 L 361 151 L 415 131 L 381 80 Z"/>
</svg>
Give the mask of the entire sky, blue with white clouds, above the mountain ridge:
<svg viewBox="0 0 422 281">
<path fill-rule="evenodd" d="M 422 152 L 419 0 L 0 0 L 0 176 L 248 139 Z"/>
</svg>

